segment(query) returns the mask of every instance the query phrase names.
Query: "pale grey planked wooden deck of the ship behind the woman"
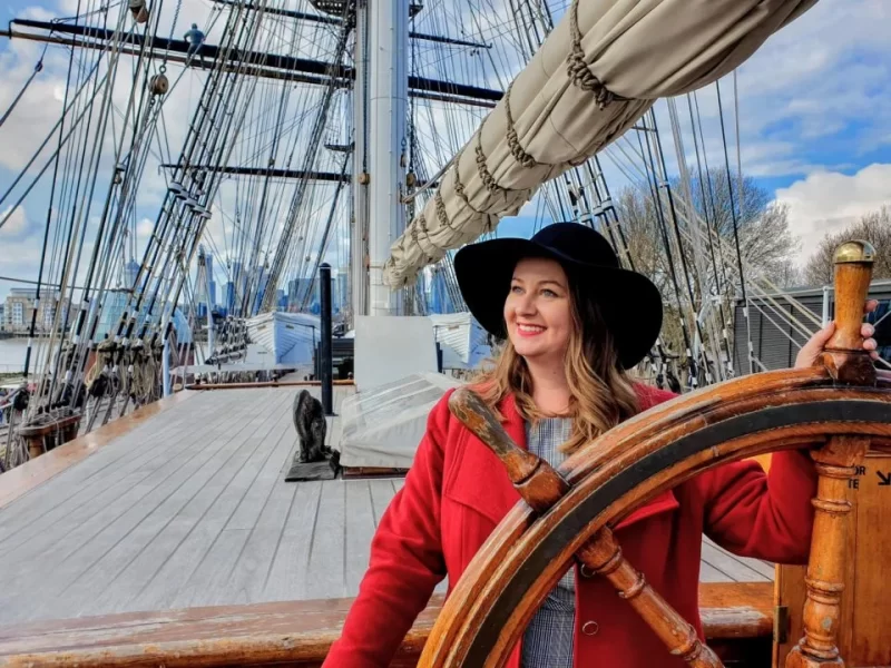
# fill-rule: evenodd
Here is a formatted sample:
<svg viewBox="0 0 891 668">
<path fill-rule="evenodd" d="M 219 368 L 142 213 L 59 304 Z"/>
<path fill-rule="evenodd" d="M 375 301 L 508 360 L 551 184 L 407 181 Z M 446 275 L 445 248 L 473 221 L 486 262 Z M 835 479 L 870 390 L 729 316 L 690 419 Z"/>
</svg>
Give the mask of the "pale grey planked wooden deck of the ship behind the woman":
<svg viewBox="0 0 891 668">
<path fill-rule="evenodd" d="M 402 481 L 284 482 L 297 391 L 188 392 L 66 445 L 67 468 L 49 465 L 62 452 L 29 462 L 49 472 L 18 498 L 0 478 L 0 625 L 355 596 Z M 336 406 L 352 387 L 334 392 Z M 772 579 L 704 541 L 704 582 Z"/>
</svg>

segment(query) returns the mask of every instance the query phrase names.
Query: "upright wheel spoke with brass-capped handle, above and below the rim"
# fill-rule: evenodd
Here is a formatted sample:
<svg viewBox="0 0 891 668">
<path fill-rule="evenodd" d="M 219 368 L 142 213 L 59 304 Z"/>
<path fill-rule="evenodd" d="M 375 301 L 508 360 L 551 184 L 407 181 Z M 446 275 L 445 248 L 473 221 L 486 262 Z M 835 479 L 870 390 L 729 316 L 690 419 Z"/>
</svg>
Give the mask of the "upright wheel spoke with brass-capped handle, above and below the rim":
<svg viewBox="0 0 891 668">
<path fill-rule="evenodd" d="M 874 385 L 875 367 L 860 333 L 875 250 L 866 242 L 848 242 L 835 252 L 835 333 L 819 363 L 842 383 Z M 839 654 L 839 623 L 844 561 L 852 504 L 848 481 L 856 475 L 869 449 L 863 436 L 834 436 L 813 452 L 819 482 L 803 609 L 804 636 L 786 657 L 786 668 L 844 666 Z"/>
</svg>

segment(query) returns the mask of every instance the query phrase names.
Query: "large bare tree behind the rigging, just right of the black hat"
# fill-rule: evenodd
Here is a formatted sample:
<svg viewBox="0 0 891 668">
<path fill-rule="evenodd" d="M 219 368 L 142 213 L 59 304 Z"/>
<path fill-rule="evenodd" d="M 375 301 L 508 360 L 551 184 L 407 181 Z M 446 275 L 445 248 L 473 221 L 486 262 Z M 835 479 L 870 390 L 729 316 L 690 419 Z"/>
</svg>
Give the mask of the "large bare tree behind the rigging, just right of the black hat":
<svg viewBox="0 0 891 668">
<path fill-rule="evenodd" d="M 738 179 L 731 174 L 728 179 L 724 169 L 713 169 L 702 178 L 694 176 L 688 189 L 679 179 L 672 180 L 669 189 L 670 199 L 665 188 L 657 199 L 648 184 L 626 188 L 616 210 L 635 269 L 648 276 L 663 295 L 662 338 L 679 352 L 685 350 L 681 317 L 692 336 L 696 326 L 693 315 L 702 313 L 708 297 L 722 297 L 724 317 L 732 322 L 740 289 L 737 239 L 747 284 L 767 278 L 777 287 L 789 287 L 799 284 L 800 275 L 793 263 L 797 243 L 789 230 L 787 210 L 772 204 L 771 195 L 751 177 Z M 695 216 L 686 215 L 688 207 Z M 621 248 L 617 229 L 613 236 Z M 718 242 L 709 244 L 714 237 Z M 706 346 L 715 347 L 711 342 L 725 324 L 730 323 L 711 330 L 703 325 Z"/>
</svg>

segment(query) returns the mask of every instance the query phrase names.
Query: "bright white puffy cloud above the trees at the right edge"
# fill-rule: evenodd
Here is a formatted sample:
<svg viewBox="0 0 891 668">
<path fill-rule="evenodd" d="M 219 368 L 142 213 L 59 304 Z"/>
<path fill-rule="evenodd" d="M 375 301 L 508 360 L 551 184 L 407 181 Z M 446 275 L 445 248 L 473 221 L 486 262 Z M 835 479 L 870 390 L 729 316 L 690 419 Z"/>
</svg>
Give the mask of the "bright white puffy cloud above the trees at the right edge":
<svg viewBox="0 0 891 668">
<path fill-rule="evenodd" d="M 870 165 L 852 176 L 816 171 L 780 188 L 776 202 L 789 205 L 790 230 L 802 239 L 804 262 L 824 235 L 891 204 L 891 164 Z"/>
</svg>

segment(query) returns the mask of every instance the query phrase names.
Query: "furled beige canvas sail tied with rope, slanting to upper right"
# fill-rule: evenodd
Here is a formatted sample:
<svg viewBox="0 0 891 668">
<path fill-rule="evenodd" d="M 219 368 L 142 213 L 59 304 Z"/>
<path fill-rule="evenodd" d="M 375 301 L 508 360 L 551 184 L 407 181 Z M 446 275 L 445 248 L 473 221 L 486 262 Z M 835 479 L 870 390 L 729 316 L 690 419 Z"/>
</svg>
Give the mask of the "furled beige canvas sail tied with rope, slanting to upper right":
<svg viewBox="0 0 891 668">
<path fill-rule="evenodd" d="M 656 99 L 738 67 L 816 0 L 574 0 L 391 247 L 384 281 L 418 272 L 516 215 Z"/>
</svg>

